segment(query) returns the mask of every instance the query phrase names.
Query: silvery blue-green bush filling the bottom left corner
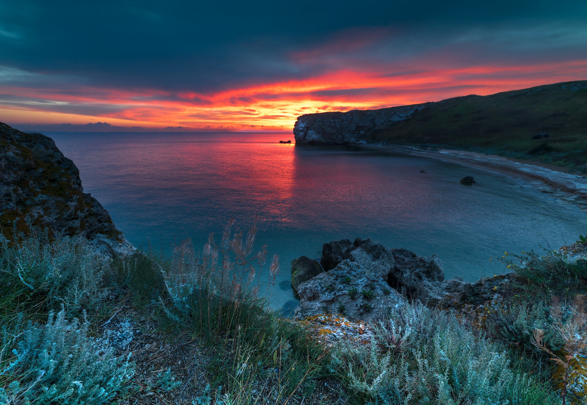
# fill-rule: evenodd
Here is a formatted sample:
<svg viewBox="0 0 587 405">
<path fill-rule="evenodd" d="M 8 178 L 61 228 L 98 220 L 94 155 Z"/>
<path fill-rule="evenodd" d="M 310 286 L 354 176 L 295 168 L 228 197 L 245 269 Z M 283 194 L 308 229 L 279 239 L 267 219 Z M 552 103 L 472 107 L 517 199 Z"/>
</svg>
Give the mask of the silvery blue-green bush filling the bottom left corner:
<svg viewBox="0 0 587 405">
<path fill-rule="evenodd" d="M 22 319 L 22 315 L 20 316 Z M 112 403 L 130 388 L 129 359 L 89 338 L 89 322 L 49 313 L 45 326 L 18 322 L 2 329 L 0 399 L 7 404 Z M 130 356 L 129 356 L 130 357 Z"/>
</svg>

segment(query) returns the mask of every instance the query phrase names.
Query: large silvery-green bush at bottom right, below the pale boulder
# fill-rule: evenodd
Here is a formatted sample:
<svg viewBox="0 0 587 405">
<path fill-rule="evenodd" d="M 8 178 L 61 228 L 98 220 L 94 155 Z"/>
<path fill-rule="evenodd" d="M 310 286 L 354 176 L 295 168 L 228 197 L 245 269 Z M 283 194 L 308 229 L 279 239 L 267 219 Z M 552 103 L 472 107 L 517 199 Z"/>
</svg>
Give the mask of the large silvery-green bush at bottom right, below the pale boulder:
<svg viewBox="0 0 587 405">
<path fill-rule="evenodd" d="M 380 323 L 370 346 L 339 343 L 330 368 L 357 403 L 556 403 L 548 388 L 512 372 L 500 346 L 420 304 Z"/>
</svg>

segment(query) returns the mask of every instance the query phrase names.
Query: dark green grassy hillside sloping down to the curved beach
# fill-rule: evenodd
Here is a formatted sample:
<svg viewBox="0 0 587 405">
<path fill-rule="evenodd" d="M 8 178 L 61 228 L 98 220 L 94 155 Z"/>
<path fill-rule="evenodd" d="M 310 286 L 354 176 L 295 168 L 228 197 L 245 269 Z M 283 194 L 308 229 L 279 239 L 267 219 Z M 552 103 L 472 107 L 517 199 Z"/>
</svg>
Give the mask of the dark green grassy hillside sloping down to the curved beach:
<svg viewBox="0 0 587 405">
<path fill-rule="evenodd" d="M 532 139 L 548 133 L 545 139 Z M 373 141 L 529 158 L 587 173 L 587 80 L 443 100 Z"/>
</svg>

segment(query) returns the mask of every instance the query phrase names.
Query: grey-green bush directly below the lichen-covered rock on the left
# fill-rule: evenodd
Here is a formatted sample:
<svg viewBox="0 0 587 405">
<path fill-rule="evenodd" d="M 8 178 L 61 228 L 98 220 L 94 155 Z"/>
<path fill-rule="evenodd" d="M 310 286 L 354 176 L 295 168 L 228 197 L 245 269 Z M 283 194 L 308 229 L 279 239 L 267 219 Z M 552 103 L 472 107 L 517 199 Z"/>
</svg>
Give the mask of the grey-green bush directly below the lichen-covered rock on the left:
<svg viewBox="0 0 587 405">
<path fill-rule="evenodd" d="M 110 260 L 96 255 L 83 238 L 49 240 L 32 230 L 25 240 L 0 234 L 0 316 L 43 313 L 65 304 L 68 314 L 97 305 Z"/>
</svg>

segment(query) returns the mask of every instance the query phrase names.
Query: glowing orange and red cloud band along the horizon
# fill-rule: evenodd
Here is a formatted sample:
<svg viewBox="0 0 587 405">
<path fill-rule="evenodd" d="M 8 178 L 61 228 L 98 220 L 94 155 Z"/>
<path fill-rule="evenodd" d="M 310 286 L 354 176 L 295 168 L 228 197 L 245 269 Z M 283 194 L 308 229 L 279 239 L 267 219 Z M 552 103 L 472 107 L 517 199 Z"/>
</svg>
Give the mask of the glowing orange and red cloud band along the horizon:
<svg viewBox="0 0 587 405">
<path fill-rule="evenodd" d="M 373 66 L 367 71 L 336 70 L 210 94 L 13 86 L 1 90 L 5 97 L 0 118 L 12 123 L 100 120 L 122 126 L 289 131 L 296 117 L 305 113 L 377 109 L 582 79 L 587 79 L 587 60 L 458 69 L 428 67 L 411 72 L 401 66 Z"/>
</svg>

